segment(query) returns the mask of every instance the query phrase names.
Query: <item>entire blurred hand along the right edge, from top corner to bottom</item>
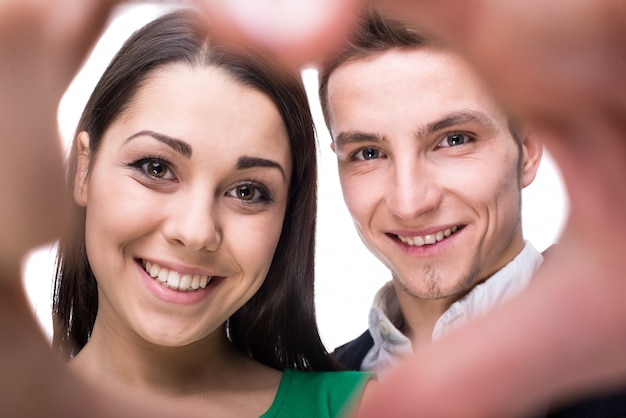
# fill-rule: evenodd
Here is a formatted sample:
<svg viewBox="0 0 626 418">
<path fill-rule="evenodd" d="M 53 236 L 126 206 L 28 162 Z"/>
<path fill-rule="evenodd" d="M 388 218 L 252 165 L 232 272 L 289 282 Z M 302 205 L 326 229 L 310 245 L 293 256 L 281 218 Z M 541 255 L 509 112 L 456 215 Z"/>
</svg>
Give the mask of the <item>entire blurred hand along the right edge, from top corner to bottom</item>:
<svg viewBox="0 0 626 418">
<path fill-rule="evenodd" d="M 524 294 L 419 350 L 366 394 L 358 416 L 523 416 L 548 401 L 626 385 L 624 1 L 368 3 L 465 55 L 496 97 L 541 131 L 570 213 Z M 329 37 L 340 39 L 318 32 L 309 42 Z"/>
</svg>

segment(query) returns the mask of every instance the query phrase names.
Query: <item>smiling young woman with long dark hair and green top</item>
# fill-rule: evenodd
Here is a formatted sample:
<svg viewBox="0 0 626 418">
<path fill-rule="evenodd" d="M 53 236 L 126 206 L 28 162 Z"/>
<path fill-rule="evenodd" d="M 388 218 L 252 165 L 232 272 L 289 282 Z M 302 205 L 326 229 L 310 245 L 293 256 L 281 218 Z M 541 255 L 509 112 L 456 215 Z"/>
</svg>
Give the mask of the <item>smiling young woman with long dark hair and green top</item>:
<svg viewBox="0 0 626 418">
<path fill-rule="evenodd" d="M 202 22 L 177 11 L 139 30 L 86 105 L 53 345 L 94 385 L 209 416 L 335 416 L 368 375 L 308 373 L 335 365 L 313 307 L 306 94 Z"/>
</svg>

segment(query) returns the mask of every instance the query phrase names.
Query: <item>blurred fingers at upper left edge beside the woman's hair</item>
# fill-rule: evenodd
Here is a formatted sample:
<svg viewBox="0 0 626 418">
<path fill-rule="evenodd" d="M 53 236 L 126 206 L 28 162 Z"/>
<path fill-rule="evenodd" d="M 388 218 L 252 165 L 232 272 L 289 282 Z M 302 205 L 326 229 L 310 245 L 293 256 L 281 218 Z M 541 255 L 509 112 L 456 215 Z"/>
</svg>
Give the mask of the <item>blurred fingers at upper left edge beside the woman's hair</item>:
<svg viewBox="0 0 626 418">
<path fill-rule="evenodd" d="M 113 0 L 0 2 L 0 281 L 64 219 L 61 96 L 95 42 Z"/>
</svg>

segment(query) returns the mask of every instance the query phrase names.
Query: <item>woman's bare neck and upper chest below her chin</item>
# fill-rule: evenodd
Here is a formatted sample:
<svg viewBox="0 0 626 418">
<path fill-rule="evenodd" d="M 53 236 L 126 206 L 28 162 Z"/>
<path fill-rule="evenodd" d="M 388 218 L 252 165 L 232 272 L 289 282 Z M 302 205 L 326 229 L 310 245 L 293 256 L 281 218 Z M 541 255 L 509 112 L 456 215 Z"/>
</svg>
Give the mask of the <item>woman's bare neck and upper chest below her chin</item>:
<svg viewBox="0 0 626 418">
<path fill-rule="evenodd" d="M 98 389 L 141 392 L 204 404 L 219 416 L 260 416 L 272 404 L 282 373 L 250 359 L 223 328 L 184 347 L 102 332 L 92 337 L 69 367 Z M 226 415 L 225 415 L 226 414 Z"/>
</svg>

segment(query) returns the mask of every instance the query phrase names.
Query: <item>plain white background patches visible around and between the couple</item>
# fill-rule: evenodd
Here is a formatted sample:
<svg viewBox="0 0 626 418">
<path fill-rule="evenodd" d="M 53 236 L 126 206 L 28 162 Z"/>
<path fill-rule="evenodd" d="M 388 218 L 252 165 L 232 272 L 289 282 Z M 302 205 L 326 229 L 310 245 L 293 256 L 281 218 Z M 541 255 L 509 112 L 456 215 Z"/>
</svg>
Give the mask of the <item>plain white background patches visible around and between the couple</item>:
<svg viewBox="0 0 626 418">
<path fill-rule="evenodd" d="M 62 138 L 69 143 L 91 90 L 109 60 L 137 28 L 167 11 L 167 6 L 120 6 L 90 58 L 77 75 L 59 108 Z M 319 217 L 316 262 L 316 309 L 322 339 L 333 349 L 361 334 L 367 312 L 378 288 L 389 280 L 388 271 L 362 245 L 346 210 L 335 156 L 330 150 L 317 100 L 317 74 L 303 72 L 317 126 L 319 150 Z M 544 153 L 537 179 L 523 192 L 523 227 L 540 251 L 554 243 L 567 212 L 562 180 L 549 155 Z M 38 249 L 25 260 L 24 284 L 44 331 L 50 335 L 50 293 L 54 248 Z"/>
</svg>

